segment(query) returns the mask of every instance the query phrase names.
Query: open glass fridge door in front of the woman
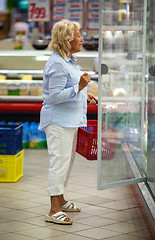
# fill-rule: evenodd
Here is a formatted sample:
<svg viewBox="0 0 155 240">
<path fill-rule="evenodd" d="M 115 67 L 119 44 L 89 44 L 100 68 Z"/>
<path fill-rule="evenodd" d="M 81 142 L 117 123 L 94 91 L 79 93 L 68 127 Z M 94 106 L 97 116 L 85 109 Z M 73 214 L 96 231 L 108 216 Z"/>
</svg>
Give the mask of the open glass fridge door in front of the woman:
<svg viewBox="0 0 155 240">
<path fill-rule="evenodd" d="M 100 1 L 98 189 L 146 182 L 145 0 Z"/>
</svg>

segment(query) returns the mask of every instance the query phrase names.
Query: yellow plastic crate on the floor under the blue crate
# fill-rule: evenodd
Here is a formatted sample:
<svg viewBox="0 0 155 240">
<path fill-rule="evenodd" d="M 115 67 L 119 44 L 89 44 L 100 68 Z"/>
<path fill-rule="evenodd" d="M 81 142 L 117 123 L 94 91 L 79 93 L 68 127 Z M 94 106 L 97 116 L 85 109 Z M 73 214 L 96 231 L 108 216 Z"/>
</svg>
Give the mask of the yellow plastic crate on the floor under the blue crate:
<svg viewBox="0 0 155 240">
<path fill-rule="evenodd" d="M 24 150 L 16 155 L 0 155 L 0 182 L 16 182 L 23 176 Z"/>
</svg>

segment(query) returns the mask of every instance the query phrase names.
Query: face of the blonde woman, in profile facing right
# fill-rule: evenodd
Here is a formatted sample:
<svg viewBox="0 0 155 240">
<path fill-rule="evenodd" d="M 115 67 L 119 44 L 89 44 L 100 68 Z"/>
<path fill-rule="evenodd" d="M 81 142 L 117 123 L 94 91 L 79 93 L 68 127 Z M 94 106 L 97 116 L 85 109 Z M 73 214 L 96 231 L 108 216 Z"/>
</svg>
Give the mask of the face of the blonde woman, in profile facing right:
<svg viewBox="0 0 155 240">
<path fill-rule="evenodd" d="M 83 39 L 80 35 L 80 31 L 75 29 L 74 39 L 70 41 L 70 45 L 71 45 L 70 54 L 80 52 L 82 47 L 82 42 L 83 42 Z"/>
</svg>

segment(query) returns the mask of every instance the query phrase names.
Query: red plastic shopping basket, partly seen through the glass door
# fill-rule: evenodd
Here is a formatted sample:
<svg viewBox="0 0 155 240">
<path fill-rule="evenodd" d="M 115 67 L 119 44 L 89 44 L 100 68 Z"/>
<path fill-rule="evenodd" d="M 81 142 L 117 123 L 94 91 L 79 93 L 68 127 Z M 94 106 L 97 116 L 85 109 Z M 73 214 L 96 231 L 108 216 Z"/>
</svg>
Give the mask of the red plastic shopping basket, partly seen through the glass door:
<svg viewBox="0 0 155 240">
<path fill-rule="evenodd" d="M 102 129 L 102 159 L 113 159 L 116 153 L 117 130 L 105 126 Z M 76 151 L 87 160 L 97 160 L 97 120 L 88 120 L 87 127 L 78 129 L 77 148 Z"/>
</svg>

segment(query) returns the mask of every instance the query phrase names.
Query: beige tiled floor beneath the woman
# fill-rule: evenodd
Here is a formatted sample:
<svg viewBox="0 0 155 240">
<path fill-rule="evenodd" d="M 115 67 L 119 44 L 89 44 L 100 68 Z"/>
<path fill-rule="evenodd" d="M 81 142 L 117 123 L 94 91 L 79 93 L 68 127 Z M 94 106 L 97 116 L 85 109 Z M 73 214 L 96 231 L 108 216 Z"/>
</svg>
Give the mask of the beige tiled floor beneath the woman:
<svg viewBox="0 0 155 240">
<path fill-rule="evenodd" d="M 24 177 L 0 183 L 1 240 L 152 239 L 131 187 L 97 191 L 97 162 L 78 154 L 65 196 L 82 211 L 68 214 L 72 226 L 46 223 L 47 172 L 47 150 L 25 150 Z"/>
</svg>

